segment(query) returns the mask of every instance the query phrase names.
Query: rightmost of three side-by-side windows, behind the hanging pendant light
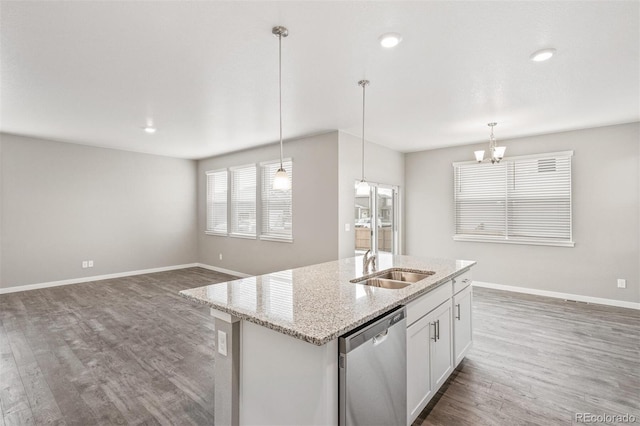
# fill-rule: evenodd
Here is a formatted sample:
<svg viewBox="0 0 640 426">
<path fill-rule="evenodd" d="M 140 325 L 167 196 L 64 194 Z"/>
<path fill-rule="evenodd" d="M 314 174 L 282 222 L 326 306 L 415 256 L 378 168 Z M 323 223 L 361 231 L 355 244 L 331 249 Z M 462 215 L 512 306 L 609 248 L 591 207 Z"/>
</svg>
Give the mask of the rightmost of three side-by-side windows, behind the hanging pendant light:
<svg viewBox="0 0 640 426">
<path fill-rule="evenodd" d="M 282 166 L 293 182 L 293 163 L 291 159 L 283 161 Z M 280 162 L 262 163 L 261 191 L 261 239 L 292 241 L 292 189 L 282 191 L 273 189 L 273 177 L 280 168 Z"/>
</svg>

